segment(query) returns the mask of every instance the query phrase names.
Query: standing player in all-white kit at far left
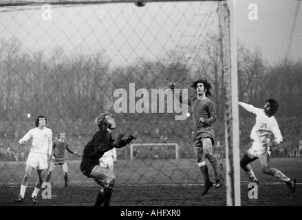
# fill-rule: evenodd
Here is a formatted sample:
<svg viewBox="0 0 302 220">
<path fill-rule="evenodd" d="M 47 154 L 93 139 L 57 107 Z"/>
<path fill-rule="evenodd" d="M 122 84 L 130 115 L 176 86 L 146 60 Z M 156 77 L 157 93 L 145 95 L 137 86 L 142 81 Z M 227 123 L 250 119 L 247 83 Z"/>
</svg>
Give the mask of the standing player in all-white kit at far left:
<svg viewBox="0 0 302 220">
<path fill-rule="evenodd" d="M 32 192 L 32 202 L 37 203 L 36 197 L 43 184 L 44 170 L 48 167 L 47 159 L 50 158 L 50 154 L 52 153 L 52 130 L 45 126 L 46 123 L 47 119 L 45 116 L 38 116 L 35 122 L 36 128 L 30 129 L 30 131 L 19 140 L 19 143 L 24 146 L 28 140 L 32 139 L 32 144 L 30 147 L 30 154 L 26 161 L 25 175 L 22 179 L 20 195 L 15 199 L 16 202 L 23 201 L 25 190 L 28 186 L 28 178 L 34 168 L 38 174 L 38 181 L 36 181 L 34 192 Z"/>
</svg>

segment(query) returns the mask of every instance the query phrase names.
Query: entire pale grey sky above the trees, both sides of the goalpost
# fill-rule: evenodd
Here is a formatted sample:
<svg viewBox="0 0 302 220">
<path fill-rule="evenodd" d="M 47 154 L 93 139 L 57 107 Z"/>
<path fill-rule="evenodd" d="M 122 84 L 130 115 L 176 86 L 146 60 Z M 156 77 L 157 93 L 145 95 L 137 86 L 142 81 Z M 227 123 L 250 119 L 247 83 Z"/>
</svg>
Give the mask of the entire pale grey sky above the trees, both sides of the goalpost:
<svg viewBox="0 0 302 220">
<path fill-rule="evenodd" d="M 254 8 L 249 8 L 251 4 Z M 257 20 L 251 21 L 248 14 L 255 12 L 255 5 Z M 189 50 L 218 30 L 213 2 L 150 2 L 142 8 L 133 3 L 53 7 L 51 19 L 47 8 L 21 9 L 0 8 L 2 38 L 17 37 L 23 49 L 30 52 L 52 52 L 57 46 L 70 53 L 94 54 L 104 50 L 115 65 L 140 57 L 161 58 L 179 47 Z M 259 48 L 271 65 L 282 61 L 287 52 L 288 58 L 302 60 L 299 1 L 237 0 L 235 9 L 237 41 L 250 50 Z M 191 52 L 197 50 L 196 47 Z"/>
</svg>

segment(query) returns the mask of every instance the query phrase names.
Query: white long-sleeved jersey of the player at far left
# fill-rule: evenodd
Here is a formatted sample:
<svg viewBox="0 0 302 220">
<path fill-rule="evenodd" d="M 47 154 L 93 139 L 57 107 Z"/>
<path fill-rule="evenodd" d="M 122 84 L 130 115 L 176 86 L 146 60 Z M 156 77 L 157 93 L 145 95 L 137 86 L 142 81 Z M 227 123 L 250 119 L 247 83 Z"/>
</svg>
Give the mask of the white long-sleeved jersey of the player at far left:
<svg viewBox="0 0 302 220">
<path fill-rule="evenodd" d="M 28 133 L 19 140 L 19 143 L 28 142 L 32 138 L 30 152 L 51 154 L 52 153 L 52 130 L 47 127 L 43 129 L 34 128 L 30 129 Z"/>
</svg>

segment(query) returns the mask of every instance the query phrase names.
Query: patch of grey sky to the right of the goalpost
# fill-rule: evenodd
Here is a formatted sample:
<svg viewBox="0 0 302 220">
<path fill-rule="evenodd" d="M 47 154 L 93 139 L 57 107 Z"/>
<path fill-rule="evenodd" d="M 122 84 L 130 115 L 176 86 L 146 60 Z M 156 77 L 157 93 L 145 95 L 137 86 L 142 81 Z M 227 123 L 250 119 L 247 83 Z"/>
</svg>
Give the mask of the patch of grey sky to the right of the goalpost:
<svg viewBox="0 0 302 220">
<path fill-rule="evenodd" d="M 258 6 L 257 21 L 248 19 L 250 12 L 248 5 L 251 3 Z M 296 23 L 292 28 L 298 4 Z M 278 63 L 285 58 L 289 47 L 288 58 L 302 60 L 301 1 L 299 3 L 295 0 L 237 0 L 236 18 L 237 38 L 250 49 L 259 47 L 263 58 L 269 63 Z"/>
</svg>

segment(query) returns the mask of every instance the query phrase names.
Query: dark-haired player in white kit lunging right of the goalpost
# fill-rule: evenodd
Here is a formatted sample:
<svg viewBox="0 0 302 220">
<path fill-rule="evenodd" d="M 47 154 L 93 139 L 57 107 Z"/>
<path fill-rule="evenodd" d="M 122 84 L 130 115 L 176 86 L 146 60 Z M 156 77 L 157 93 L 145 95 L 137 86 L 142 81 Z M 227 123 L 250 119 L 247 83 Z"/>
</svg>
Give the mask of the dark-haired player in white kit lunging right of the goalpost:
<svg viewBox="0 0 302 220">
<path fill-rule="evenodd" d="M 288 185 L 293 193 L 296 190 L 296 179 L 292 180 L 277 168 L 269 166 L 272 148 L 283 141 L 277 120 L 274 118 L 274 114 L 279 107 L 277 100 L 272 98 L 266 100 L 263 109 L 253 107 L 251 104 L 246 104 L 244 102 L 239 102 L 239 105 L 246 109 L 246 111 L 256 115 L 255 126 L 250 133 L 250 138 L 253 141 L 252 146 L 248 149 L 244 157 L 242 157 L 240 161 L 241 168 L 244 169 L 250 181 L 259 184 L 259 181 L 255 177 L 252 167 L 250 166 L 251 162 L 259 158 L 263 173 L 281 179 Z"/>
</svg>

